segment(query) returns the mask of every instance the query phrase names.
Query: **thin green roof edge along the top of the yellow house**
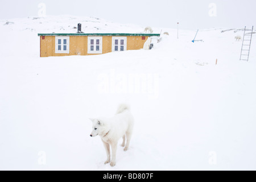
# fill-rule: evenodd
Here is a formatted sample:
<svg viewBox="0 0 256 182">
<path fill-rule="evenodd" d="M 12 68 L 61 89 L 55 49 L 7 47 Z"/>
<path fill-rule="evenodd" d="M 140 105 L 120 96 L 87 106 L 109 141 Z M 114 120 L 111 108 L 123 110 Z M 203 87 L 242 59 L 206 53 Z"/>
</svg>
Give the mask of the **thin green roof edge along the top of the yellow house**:
<svg viewBox="0 0 256 182">
<path fill-rule="evenodd" d="M 113 34 L 113 33 L 93 33 L 93 34 L 38 34 L 38 36 L 160 36 L 160 34 Z"/>
</svg>

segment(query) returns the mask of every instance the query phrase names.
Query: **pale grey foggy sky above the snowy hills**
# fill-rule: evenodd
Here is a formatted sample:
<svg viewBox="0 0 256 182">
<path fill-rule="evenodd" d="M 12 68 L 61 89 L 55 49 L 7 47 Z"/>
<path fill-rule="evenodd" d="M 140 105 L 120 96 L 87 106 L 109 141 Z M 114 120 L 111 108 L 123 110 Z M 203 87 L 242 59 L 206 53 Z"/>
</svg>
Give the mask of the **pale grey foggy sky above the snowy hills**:
<svg viewBox="0 0 256 182">
<path fill-rule="evenodd" d="M 94 16 L 151 27 L 176 28 L 179 22 L 183 29 L 243 28 L 256 22 L 255 0 L 1 0 L 0 19 L 38 16 L 41 2 L 46 15 Z M 209 16 L 210 3 L 216 4 L 216 16 Z"/>
</svg>

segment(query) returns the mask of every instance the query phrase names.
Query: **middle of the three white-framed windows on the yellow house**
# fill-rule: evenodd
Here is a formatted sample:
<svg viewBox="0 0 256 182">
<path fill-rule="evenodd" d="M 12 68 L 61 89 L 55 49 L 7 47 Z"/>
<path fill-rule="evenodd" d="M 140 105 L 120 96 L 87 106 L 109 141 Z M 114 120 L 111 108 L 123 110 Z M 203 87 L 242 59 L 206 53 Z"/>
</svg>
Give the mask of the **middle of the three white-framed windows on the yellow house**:
<svg viewBox="0 0 256 182">
<path fill-rule="evenodd" d="M 102 36 L 88 36 L 88 53 L 102 53 Z"/>
</svg>

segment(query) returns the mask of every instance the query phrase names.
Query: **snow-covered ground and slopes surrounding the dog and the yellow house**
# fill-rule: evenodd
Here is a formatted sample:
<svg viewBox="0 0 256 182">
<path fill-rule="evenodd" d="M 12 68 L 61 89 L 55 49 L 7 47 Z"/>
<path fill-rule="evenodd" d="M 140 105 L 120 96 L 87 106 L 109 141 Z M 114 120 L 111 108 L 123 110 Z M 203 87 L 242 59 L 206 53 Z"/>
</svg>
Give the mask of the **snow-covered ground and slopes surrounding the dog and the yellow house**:
<svg viewBox="0 0 256 182">
<path fill-rule="evenodd" d="M 89 17 L 0 20 L 0 169 L 256 169 L 256 44 L 228 28 L 169 32 L 150 51 L 39 57 L 38 33 L 142 32 Z M 236 27 L 242 28 L 242 27 Z M 217 65 L 216 65 L 216 59 Z M 130 150 L 104 165 L 88 118 L 110 117 L 128 102 Z M 119 141 L 121 144 L 121 140 Z"/>
</svg>

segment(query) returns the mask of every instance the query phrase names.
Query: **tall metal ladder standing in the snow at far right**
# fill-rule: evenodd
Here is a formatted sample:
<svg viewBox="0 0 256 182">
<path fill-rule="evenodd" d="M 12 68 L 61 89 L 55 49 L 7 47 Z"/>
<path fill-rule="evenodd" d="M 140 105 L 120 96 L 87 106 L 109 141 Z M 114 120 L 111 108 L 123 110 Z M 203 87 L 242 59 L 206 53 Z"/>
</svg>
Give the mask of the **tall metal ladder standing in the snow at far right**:
<svg viewBox="0 0 256 182">
<path fill-rule="evenodd" d="M 246 31 L 250 31 L 250 32 L 246 33 Z M 245 61 L 249 60 L 252 36 L 253 36 L 253 28 L 251 28 L 251 30 L 246 30 L 246 27 L 245 27 L 245 31 L 243 32 L 243 42 L 242 42 L 240 60 L 245 60 Z"/>
</svg>

